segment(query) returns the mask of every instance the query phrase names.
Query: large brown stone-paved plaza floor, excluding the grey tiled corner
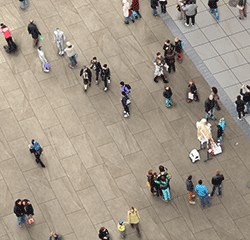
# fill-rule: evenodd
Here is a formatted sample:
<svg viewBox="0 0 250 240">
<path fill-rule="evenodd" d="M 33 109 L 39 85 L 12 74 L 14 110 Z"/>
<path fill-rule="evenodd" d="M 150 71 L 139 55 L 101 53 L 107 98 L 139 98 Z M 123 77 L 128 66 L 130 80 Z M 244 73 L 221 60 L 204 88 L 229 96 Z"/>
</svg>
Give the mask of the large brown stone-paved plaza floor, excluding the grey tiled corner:
<svg viewBox="0 0 250 240">
<path fill-rule="evenodd" d="M 0 0 L 0 22 L 10 27 L 19 51 L 0 50 L 0 240 L 44 240 L 56 231 L 65 240 L 98 239 L 105 226 L 120 239 L 117 223 L 127 220 L 130 206 L 141 216 L 144 240 L 250 239 L 249 140 L 222 103 L 225 117 L 223 153 L 192 164 L 188 154 L 199 148 L 195 124 L 205 116 L 210 86 L 186 53 L 168 74 L 173 107 L 165 107 L 164 85 L 153 82 L 153 60 L 164 41 L 174 39 L 161 18 L 154 18 L 148 0 L 140 1 L 142 19 L 124 24 L 120 0 L 32 0 L 25 10 L 17 0 Z M 42 72 L 29 20 L 37 24 L 51 71 Z M 70 69 L 53 42 L 59 27 L 78 53 Z M 185 43 L 188 44 L 188 43 Z M 5 45 L 1 35 L 0 46 Z M 96 56 L 111 69 L 109 91 L 103 83 L 84 93 L 81 66 Z M 188 81 L 198 87 L 200 102 L 186 103 Z M 123 118 L 119 82 L 132 87 L 131 115 Z M 94 82 L 94 81 L 93 81 Z M 211 122 L 211 121 L 210 121 Z M 211 122 L 216 136 L 218 121 Z M 28 144 L 44 149 L 45 169 Z M 235 145 L 235 143 L 239 143 Z M 163 164 L 172 174 L 171 202 L 152 196 L 146 186 L 149 169 Z M 190 205 L 188 175 L 211 191 L 219 169 L 223 194 L 201 207 Z M 14 201 L 28 198 L 35 223 L 20 229 Z M 138 239 L 127 226 L 127 238 Z"/>
</svg>

